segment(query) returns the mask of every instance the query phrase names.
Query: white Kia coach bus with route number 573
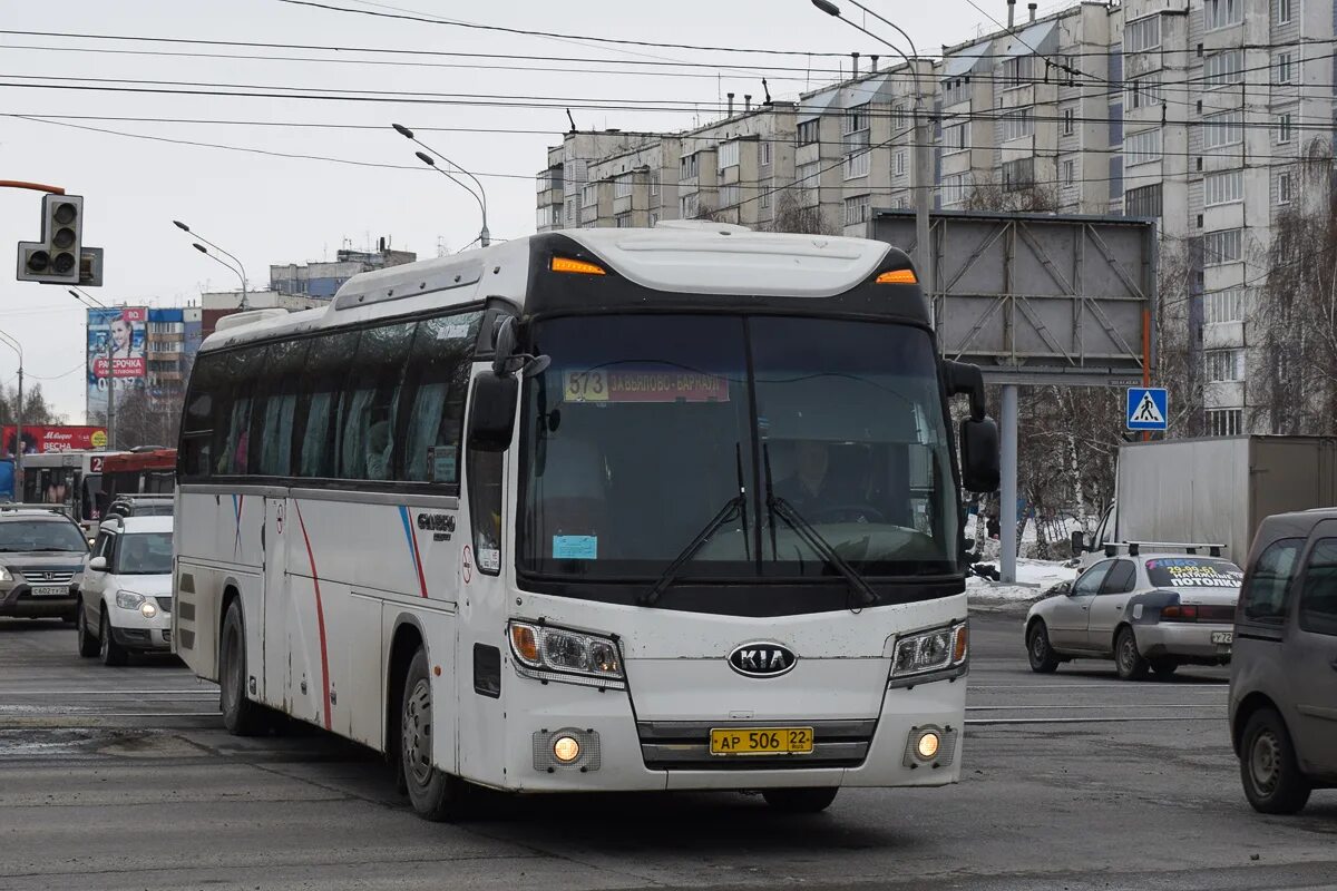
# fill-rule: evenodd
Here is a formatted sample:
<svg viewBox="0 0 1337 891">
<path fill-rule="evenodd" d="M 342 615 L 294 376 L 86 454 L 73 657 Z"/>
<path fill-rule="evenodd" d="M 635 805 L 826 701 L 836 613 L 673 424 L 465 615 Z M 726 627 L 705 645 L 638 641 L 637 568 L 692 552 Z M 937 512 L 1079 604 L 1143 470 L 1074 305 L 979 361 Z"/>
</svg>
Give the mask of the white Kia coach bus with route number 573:
<svg viewBox="0 0 1337 891">
<path fill-rule="evenodd" d="M 227 319 L 182 421 L 174 641 L 269 711 L 473 787 L 960 771 L 964 481 L 997 438 L 906 256 L 659 226 L 521 238 Z"/>
</svg>

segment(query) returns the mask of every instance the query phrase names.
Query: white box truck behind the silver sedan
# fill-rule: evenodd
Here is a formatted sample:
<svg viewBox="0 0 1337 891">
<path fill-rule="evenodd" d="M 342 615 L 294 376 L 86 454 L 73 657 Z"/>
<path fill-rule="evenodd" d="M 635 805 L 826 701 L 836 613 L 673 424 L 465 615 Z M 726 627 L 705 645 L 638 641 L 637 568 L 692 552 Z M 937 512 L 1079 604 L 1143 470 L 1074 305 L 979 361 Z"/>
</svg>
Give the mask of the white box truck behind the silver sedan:
<svg viewBox="0 0 1337 891">
<path fill-rule="evenodd" d="M 1223 545 L 1241 566 L 1263 517 L 1337 506 L 1337 437 L 1213 437 L 1119 448 L 1115 501 L 1082 565 L 1123 541 Z"/>
</svg>

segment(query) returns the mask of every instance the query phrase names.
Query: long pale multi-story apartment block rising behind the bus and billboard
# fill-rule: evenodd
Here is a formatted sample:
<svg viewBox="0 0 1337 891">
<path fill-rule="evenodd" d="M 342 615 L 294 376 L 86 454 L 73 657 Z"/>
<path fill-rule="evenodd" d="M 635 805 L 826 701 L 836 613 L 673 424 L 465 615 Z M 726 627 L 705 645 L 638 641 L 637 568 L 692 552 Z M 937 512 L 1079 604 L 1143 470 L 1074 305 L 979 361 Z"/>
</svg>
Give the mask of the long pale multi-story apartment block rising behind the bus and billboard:
<svg viewBox="0 0 1337 891">
<path fill-rule="evenodd" d="M 566 224 L 711 216 L 785 227 L 783 199 L 805 227 L 858 235 L 876 210 L 915 207 L 921 184 L 945 210 L 1155 219 L 1161 267 L 1181 273 L 1161 299 L 1186 310 L 1181 346 L 1201 363 L 1202 427 L 1267 431 L 1267 398 L 1250 383 L 1270 361 L 1259 294 L 1278 214 L 1306 199 L 1300 159 L 1316 139 L 1332 151 L 1337 0 L 1084 1 L 1043 17 L 1029 3 L 1024 20 L 1015 3 L 1005 9 L 1009 27 L 944 47 L 932 65 L 878 69 L 874 57 L 868 73 L 793 106 L 639 135 L 618 151 L 599 140 L 624 136 L 571 134 L 540 183 L 579 143 L 592 176 L 586 212 L 568 206 Z M 916 108 L 933 122 L 925 183 Z M 540 228 L 545 203 L 560 202 L 540 186 Z"/>
</svg>

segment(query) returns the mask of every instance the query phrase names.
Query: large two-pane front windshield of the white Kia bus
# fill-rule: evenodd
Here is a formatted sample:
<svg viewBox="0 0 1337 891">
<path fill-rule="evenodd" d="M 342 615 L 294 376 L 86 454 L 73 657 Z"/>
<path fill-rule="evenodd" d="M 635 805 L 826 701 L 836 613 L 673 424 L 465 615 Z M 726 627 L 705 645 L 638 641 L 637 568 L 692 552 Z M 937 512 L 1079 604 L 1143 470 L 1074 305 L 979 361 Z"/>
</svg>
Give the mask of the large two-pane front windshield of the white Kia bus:
<svg viewBox="0 0 1337 891">
<path fill-rule="evenodd" d="M 655 578 L 730 500 L 745 510 L 682 578 L 957 569 L 956 480 L 927 331 L 796 317 L 611 315 L 537 323 L 525 385 L 519 568 Z"/>
</svg>

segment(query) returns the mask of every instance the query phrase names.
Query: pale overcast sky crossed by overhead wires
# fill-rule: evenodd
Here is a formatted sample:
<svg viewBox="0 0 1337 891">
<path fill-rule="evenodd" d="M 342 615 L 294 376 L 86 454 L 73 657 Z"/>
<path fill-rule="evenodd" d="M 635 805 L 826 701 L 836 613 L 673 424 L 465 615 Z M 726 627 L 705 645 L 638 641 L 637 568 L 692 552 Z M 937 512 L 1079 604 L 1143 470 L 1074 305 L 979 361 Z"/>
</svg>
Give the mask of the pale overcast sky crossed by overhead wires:
<svg viewBox="0 0 1337 891">
<path fill-rule="evenodd" d="M 449 16 L 455 21 L 548 31 L 590 37 L 804 52 L 889 51 L 848 25 L 816 11 L 809 0 L 496 0 L 485 4 L 444 0 L 325 0 L 386 15 Z M 1005 19 L 1004 0 L 973 0 Z M 0 35 L 0 179 L 64 186 L 86 198 L 84 243 L 106 255 L 104 302 L 178 306 L 201 290 L 237 286 L 237 278 L 191 250 L 190 239 L 171 226 L 183 219 L 193 228 L 237 254 L 253 289 L 266 287 L 270 263 L 333 259 L 334 251 L 362 248 L 380 236 L 393 247 L 435 256 L 439 244 L 457 250 L 479 230 L 477 206 L 439 174 L 421 168 L 416 150 L 394 134 L 390 122 L 418 131 L 433 148 L 472 170 L 488 191 L 495 238 L 533 231 L 533 175 L 544 150 L 567 128 L 559 108 L 499 108 L 457 104 L 461 94 L 562 98 L 580 128 L 677 130 L 709 120 L 722 94 L 746 92 L 759 100 L 766 73 L 775 99 L 836 79 L 829 73 L 849 60 L 805 56 L 761 56 L 667 47 L 612 45 L 556 37 L 480 31 L 364 13 L 337 12 L 281 0 L 66 0 L 57 4 L 0 0 L 0 29 L 100 36 L 171 37 L 213 41 L 306 44 L 312 47 L 396 48 L 429 52 L 505 53 L 511 59 L 464 59 L 433 55 L 370 55 L 328 49 L 255 48 L 186 43 L 111 41 L 67 36 Z M 841 0 L 848 15 L 860 13 Z M 972 0 L 864 0 L 905 28 L 925 55 L 944 43 L 959 43 L 996 25 Z M 1024 16 L 1024 3 L 1020 16 Z M 1067 3 L 1042 3 L 1040 13 Z M 873 20 L 870 29 L 896 35 Z M 28 48 L 23 48 L 28 47 Z M 115 51 L 115 52 L 112 52 Z M 144 55 L 150 53 L 150 55 Z M 164 55 L 170 53 L 170 55 Z M 226 56 L 269 56 L 238 59 Z M 301 57 L 302 61 L 275 60 Z M 556 61 L 592 59 L 599 63 Z M 370 64 L 370 61 L 394 64 Z M 638 65 L 646 61 L 691 61 L 701 67 Z M 610 64 L 611 63 L 611 64 Z M 626 64 L 620 64 L 626 63 Z M 865 63 L 866 64 L 866 63 Z M 477 65 L 492 65 L 479 68 Z M 758 72 L 749 65 L 783 65 L 824 71 Z M 580 68 L 583 71 L 521 71 Z M 655 76 L 673 71 L 693 76 Z M 56 81 L 55 77 L 74 80 Z M 111 83 L 99 83 L 102 79 Z M 136 81 L 176 81 L 139 83 Z M 119 92 L 55 90 L 43 84 L 114 85 Z M 179 84 L 199 84 L 183 87 Z M 28 85 L 13 85 L 28 84 Z M 219 84 L 229 84 L 219 87 Z M 278 98 L 167 96 L 143 90 L 275 92 L 389 91 L 439 94 L 425 102 L 298 100 Z M 138 92 L 136 92 L 138 91 Z M 533 99 L 536 98 L 536 99 Z M 588 108 L 660 100 L 666 111 Z M 485 103 L 493 99 L 467 99 Z M 501 102 L 507 102 L 503 99 Z M 17 118 L 79 116 L 64 124 Z M 88 119 L 92 116 L 103 120 Z M 130 120 L 111 120 L 111 119 Z M 249 122 L 154 123 L 144 119 Z M 358 124 L 366 130 L 263 124 Z M 429 128 L 452 128 L 432 132 Z M 457 130 L 464 128 L 465 131 Z M 533 131 L 533 132 L 467 132 Z M 155 142 L 135 136 L 215 143 L 286 155 L 321 155 L 366 164 L 400 164 L 404 170 L 365 167 L 298 158 Z M 43 379 L 48 401 L 71 423 L 84 414 L 84 323 L 79 305 L 64 287 L 20 285 L 15 243 L 40 236 L 40 195 L 0 190 L 0 330 L 17 338 L 27 353 L 29 379 Z M 0 350 L 0 383 L 12 385 L 16 361 Z"/>
</svg>

